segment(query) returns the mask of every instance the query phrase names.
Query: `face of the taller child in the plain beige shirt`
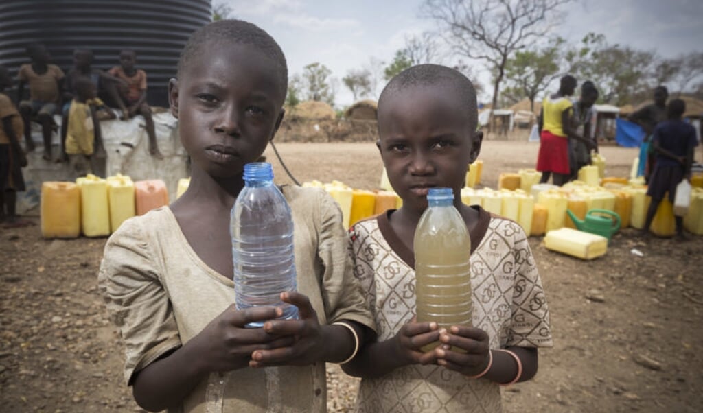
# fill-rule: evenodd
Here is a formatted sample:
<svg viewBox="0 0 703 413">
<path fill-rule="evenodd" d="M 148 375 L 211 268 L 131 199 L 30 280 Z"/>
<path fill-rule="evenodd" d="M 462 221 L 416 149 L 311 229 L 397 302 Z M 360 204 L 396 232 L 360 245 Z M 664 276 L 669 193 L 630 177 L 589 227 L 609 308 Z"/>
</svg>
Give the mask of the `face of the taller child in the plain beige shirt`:
<svg viewBox="0 0 703 413">
<path fill-rule="evenodd" d="M 218 178 L 240 176 L 276 133 L 285 91 L 276 65 L 253 46 L 219 41 L 202 48 L 169 84 L 171 112 L 193 166 Z"/>
</svg>

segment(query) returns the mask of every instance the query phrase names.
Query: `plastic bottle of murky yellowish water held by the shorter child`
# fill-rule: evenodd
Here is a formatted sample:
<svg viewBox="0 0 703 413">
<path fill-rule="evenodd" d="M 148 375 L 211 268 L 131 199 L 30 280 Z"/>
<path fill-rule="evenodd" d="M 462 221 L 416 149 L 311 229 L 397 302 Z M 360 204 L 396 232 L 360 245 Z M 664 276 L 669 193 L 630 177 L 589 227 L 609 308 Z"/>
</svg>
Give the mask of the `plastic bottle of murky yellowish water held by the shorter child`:
<svg viewBox="0 0 703 413">
<path fill-rule="evenodd" d="M 471 240 L 453 200 L 451 188 L 430 188 L 413 242 L 418 322 L 439 327 L 471 325 Z"/>
</svg>

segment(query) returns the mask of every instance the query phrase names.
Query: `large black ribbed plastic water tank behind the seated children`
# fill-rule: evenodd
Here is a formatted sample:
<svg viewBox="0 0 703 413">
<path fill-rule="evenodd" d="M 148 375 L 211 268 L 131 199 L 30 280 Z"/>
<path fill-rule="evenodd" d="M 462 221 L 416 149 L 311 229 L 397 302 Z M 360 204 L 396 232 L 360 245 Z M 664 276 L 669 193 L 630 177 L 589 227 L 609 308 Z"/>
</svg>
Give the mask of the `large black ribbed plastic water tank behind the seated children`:
<svg viewBox="0 0 703 413">
<path fill-rule="evenodd" d="M 25 47 L 37 42 L 65 72 L 77 48 L 92 50 L 93 67 L 108 70 L 131 48 L 148 76 L 149 103 L 166 106 L 181 48 L 211 19 L 209 0 L 2 0 L 0 65 L 16 74 L 29 62 Z"/>
</svg>

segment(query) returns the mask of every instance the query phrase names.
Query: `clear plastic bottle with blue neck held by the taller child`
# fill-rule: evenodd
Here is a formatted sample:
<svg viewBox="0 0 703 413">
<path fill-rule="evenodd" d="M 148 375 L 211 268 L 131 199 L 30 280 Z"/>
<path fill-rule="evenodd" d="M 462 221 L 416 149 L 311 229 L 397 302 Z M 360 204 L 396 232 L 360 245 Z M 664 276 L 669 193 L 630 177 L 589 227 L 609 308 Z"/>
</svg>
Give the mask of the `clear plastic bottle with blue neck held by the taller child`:
<svg viewBox="0 0 703 413">
<path fill-rule="evenodd" d="M 295 291 L 290 206 L 273 185 L 271 164 L 246 164 L 244 181 L 230 216 L 236 306 L 276 306 L 283 308 L 280 318 L 297 318 L 297 307 L 280 301 L 281 292 Z M 262 325 L 252 322 L 247 327 Z"/>
</svg>

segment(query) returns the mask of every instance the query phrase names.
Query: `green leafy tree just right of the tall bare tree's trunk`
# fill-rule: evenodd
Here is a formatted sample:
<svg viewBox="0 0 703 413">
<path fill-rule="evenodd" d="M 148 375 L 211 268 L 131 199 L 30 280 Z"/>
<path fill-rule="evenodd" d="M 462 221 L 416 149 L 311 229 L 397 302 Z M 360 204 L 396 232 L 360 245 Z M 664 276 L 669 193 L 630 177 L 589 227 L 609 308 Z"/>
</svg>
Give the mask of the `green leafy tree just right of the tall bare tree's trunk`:
<svg viewBox="0 0 703 413">
<path fill-rule="evenodd" d="M 559 63 L 565 40 L 557 38 L 544 48 L 516 51 L 505 62 L 505 81 L 508 89 L 503 93 L 510 100 L 527 97 L 534 112 L 534 100 L 539 93 L 562 74 Z"/>
</svg>

